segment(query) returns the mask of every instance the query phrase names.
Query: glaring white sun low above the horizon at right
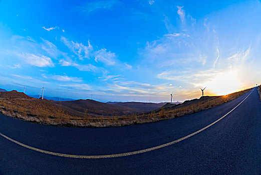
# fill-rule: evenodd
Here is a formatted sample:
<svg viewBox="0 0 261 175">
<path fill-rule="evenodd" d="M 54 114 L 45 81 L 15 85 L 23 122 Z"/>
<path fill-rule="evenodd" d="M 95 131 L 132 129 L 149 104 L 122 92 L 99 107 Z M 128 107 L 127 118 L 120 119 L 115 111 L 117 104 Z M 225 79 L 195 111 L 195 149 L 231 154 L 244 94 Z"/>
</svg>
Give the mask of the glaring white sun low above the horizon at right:
<svg viewBox="0 0 261 175">
<path fill-rule="evenodd" d="M 216 95 L 226 95 L 240 90 L 242 83 L 237 78 L 236 71 L 220 72 L 206 83 L 209 91 Z"/>
</svg>

